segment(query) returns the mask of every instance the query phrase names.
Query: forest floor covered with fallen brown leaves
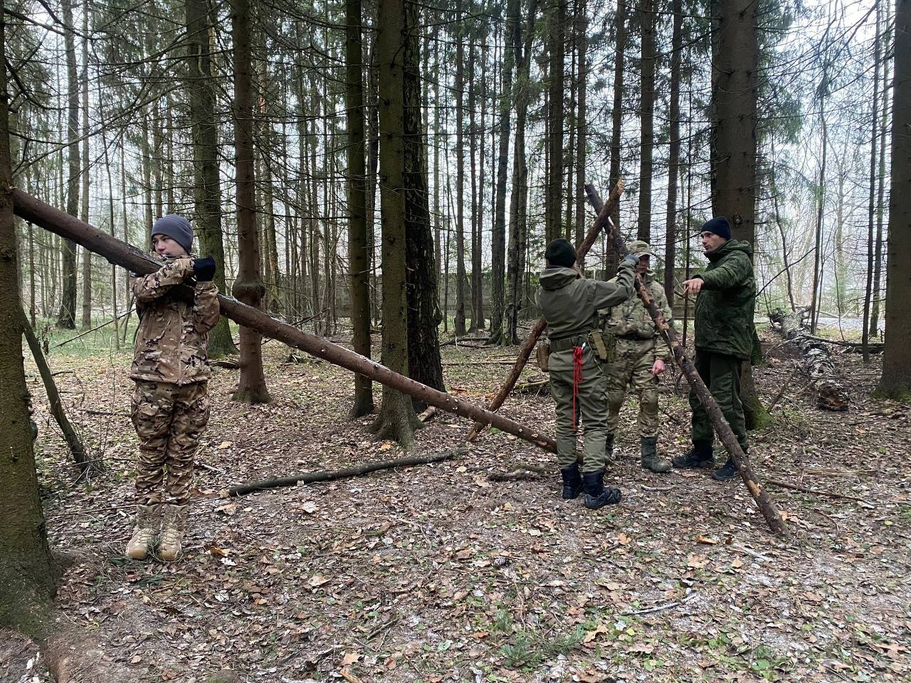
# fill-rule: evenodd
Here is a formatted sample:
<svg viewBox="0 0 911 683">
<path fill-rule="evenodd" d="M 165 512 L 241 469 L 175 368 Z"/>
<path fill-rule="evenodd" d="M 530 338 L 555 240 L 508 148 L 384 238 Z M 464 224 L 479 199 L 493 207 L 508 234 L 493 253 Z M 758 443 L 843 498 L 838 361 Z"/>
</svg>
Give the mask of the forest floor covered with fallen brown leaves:
<svg viewBox="0 0 911 683">
<path fill-rule="evenodd" d="M 550 454 L 496 430 L 433 466 L 220 498 L 232 484 L 403 455 L 374 439 L 371 418 L 345 419 L 349 372 L 287 362 L 269 342 L 271 403 L 233 403 L 237 372 L 214 370 L 200 500 L 173 564 L 123 556 L 137 446 L 129 355 L 74 342 L 50 362 L 107 465 L 90 484 L 74 484 L 26 365 L 50 542 L 81 557 L 56 603 L 139 683 L 202 683 L 222 668 L 275 683 L 911 680 L 909 407 L 870 397 L 878 357 L 865 368 L 842 352 L 853 403 L 824 412 L 788 348 L 762 336 L 755 382 L 764 403 L 777 401 L 773 424 L 752 433 L 754 468 L 814 491 L 770 484 L 786 541 L 739 480 L 641 469 L 633 398 L 606 477 L 624 498 L 595 512 L 559 498 Z M 516 352 L 444 347 L 448 388 L 486 403 L 509 366 L 472 363 Z M 661 389 L 669 455 L 688 448 L 686 382 L 675 380 Z M 548 394 L 514 395 L 503 413 L 553 432 Z M 413 453 L 454 448 L 468 427 L 438 414 Z M 488 478 L 518 465 L 548 474 Z M 0 681 L 51 680 L 34 644 L 0 641 Z"/>
</svg>

